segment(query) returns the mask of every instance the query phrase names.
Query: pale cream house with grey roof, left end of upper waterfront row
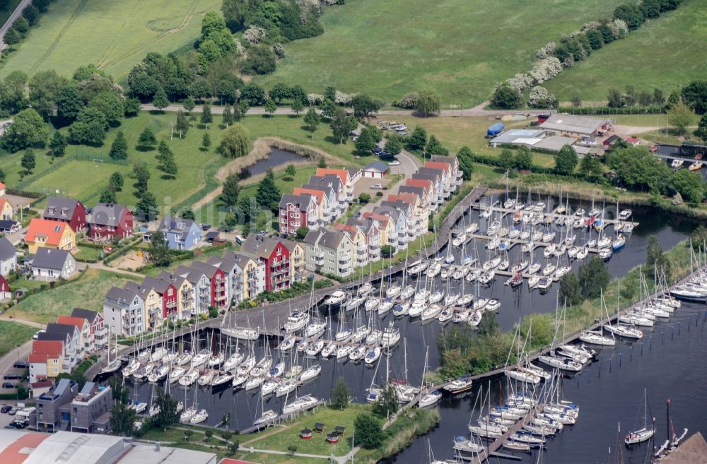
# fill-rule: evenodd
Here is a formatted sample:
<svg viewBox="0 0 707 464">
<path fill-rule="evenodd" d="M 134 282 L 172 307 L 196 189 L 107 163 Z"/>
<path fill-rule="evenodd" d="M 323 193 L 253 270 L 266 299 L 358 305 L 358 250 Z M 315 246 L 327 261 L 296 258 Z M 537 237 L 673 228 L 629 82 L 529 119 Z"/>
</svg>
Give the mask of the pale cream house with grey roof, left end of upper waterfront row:
<svg viewBox="0 0 707 464">
<path fill-rule="evenodd" d="M 346 277 L 354 270 L 354 242 L 347 234 L 332 230 L 312 230 L 305 237 L 305 268 Z"/>
</svg>

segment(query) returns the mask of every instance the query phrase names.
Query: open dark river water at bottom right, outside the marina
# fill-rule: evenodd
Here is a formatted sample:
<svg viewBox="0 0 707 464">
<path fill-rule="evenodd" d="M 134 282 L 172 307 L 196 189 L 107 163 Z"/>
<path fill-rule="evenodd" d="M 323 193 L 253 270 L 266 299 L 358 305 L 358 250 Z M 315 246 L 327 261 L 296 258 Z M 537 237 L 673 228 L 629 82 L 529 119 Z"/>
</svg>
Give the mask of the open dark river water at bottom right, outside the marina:
<svg viewBox="0 0 707 464">
<path fill-rule="evenodd" d="M 643 427 L 643 389 L 648 395 L 649 416 L 655 417 L 655 443 L 667 438 L 666 403 L 670 399 L 670 417 L 677 435 L 684 428 L 689 434 L 707 430 L 704 405 L 704 379 L 707 379 L 707 311 L 703 305 L 683 304 L 669 322 L 643 330 L 638 343 L 618 343 L 601 350 L 599 359 L 585 367 L 578 376 L 563 380 L 562 393 L 580 407 L 576 424 L 566 426 L 547 441 L 538 459 L 537 453 L 517 453 L 523 463 L 599 464 L 615 462 L 617 432 L 626 433 Z M 696 321 L 699 323 L 696 325 Z M 479 416 L 473 410 L 480 387 L 491 388 L 491 400 L 500 398 L 503 377 L 476 386 L 463 398 L 443 398 L 442 420 L 430 434 L 417 439 L 409 448 L 387 464 L 427 464 L 428 441 L 437 459 L 453 457 L 452 439 L 467 435 L 467 424 Z M 639 423 L 640 422 L 640 423 Z M 688 434 L 688 436 L 689 436 Z M 624 463 L 644 463 L 648 444 L 626 448 L 620 444 Z M 653 444 L 650 444 L 652 449 Z M 609 459 L 609 449 L 612 453 Z M 502 453 L 510 453 L 501 450 Z M 491 458 L 492 463 L 501 462 Z M 511 461 L 503 461 L 511 462 Z"/>
</svg>

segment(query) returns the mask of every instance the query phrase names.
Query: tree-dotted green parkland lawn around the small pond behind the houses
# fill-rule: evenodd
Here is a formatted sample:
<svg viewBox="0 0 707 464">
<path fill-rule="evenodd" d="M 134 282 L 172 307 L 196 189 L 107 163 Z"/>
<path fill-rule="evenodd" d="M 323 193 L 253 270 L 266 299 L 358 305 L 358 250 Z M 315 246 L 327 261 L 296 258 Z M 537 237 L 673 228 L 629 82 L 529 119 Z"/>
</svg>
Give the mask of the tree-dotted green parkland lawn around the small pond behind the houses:
<svg viewBox="0 0 707 464">
<path fill-rule="evenodd" d="M 88 147 L 86 145 L 69 145 L 64 158 L 57 158 L 54 165 L 51 157 L 45 155 L 45 150 L 35 150 L 37 166 L 30 176 L 25 177 L 23 187 L 35 191 L 44 191 L 47 194 L 66 194 L 76 197 L 84 203 L 93 206 L 98 201 L 100 192 L 105 189 L 108 179 L 113 172 L 124 174 L 125 185 L 117 194 L 117 200 L 134 206 L 138 198 L 134 195 L 134 179 L 131 177 L 132 167 L 136 162 L 146 162 L 151 168 L 151 178 L 148 182 L 150 191 L 155 195 L 158 205 L 170 206 L 185 201 L 190 196 L 199 193 L 206 186 L 206 180 L 213 177 L 218 168 L 226 165 L 228 159 L 216 153 L 216 146 L 221 140 L 225 130 L 221 125 L 221 115 L 214 115 L 214 123 L 209 124 L 208 133 L 211 137 L 209 150 L 201 150 L 202 138 L 207 129 L 197 121 L 180 139 L 178 134 L 170 140 L 171 126 L 175 120 L 175 113 L 151 114 L 141 112 L 139 116 L 124 119 L 122 125 L 110 129 L 105 143 L 101 147 Z M 354 156 L 354 143 L 339 144 L 334 141 L 332 131 L 326 124 L 321 124 L 315 133 L 302 129 L 303 118 L 291 116 L 245 117 L 241 123 L 250 131 L 253 140 L 263 136 L 284 138 L 301 145 L 310 145 L 324 150 L 342 159 L 342 164 L 361 165 L 365 159 L 356 159 Z M 156 159 L 157 150 L 141 151 L 136 149 L 140 133 L 149 127 L 158 140 L 168 143 L 175 155 L 179 172 L 177 179 L 166 178 L 163 172 L 157 169 L 159 162 Z M 94 162 L 94 157 L 107 158 L 110 145 L 115 139 L 117 131 L 123 131 L 128 143 L 128 164 L 116 165 L 112 163 Z M 66 129 L 62 129 L 66 132 Z M 66 160 L 72 155 L 85 155 L 88 160 Z M 16 186 L 21 182 L 20 166 L 23 152 L 5 153 L 0 151 L 0 162 L 6 173 L 5 183 Z M 203 192 L 205 195 L 206 191 Z M 203 196 L 203 195 L 202 195 Z M 198 198 L 197 198 L 198 199 Z M 196 201 L 196 200 L 195 200 Z"/>
</svg>

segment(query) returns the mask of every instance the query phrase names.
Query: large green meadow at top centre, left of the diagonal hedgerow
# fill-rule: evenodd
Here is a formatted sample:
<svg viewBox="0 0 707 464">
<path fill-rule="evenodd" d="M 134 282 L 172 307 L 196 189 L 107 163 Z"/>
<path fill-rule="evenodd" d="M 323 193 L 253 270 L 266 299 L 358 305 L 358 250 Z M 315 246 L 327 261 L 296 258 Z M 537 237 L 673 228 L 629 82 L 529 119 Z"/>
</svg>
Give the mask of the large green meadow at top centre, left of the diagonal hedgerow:
<svg viewBox="0 0 707 464">
<path fill-rule="evenodd" d="M 539 47 L 617 3 L 625 1 L 350 0 L 325 8 L 324 34 L 285 44 L 278 70 L 257 81 L 319 93 L 334 85 L 388 103 L 429 86 L 445 107 L 472 107 L 530 69 Z"/>
</svg>

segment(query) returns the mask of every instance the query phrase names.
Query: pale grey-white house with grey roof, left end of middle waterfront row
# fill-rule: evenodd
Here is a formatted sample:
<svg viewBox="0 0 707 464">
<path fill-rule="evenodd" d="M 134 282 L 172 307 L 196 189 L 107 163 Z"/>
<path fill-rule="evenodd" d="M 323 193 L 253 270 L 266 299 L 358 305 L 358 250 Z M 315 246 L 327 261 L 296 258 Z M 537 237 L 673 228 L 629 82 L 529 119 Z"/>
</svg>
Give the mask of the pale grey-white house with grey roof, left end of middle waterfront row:
<svg viewBox="0 0 707 464">
<path fill-rule="evenodd" d="M 146 330 L 145 299 L 134 287 L 111 287 L 103 301 L 103 319 L 111 333 L 132 337 Z"/>
</svg>

